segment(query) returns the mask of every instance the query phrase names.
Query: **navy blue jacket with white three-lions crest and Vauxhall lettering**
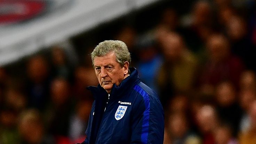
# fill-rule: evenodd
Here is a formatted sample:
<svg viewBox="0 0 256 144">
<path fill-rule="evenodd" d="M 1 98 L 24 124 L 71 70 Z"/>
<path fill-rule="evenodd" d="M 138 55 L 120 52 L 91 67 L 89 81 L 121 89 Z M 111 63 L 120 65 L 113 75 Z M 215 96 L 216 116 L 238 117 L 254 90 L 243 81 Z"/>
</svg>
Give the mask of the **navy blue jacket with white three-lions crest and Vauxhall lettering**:
<svg viewBox="0 0 256 144">
<path fill-rule="evenodd" d="M 82 144 L 163 143 L 164 114 L 159 98 L 141 82 L 134 67 L 130 72 L 119 86 L 113 85 L 109 100 L 100 85 L 88 87 L 95 101 Z"/>
</svg>

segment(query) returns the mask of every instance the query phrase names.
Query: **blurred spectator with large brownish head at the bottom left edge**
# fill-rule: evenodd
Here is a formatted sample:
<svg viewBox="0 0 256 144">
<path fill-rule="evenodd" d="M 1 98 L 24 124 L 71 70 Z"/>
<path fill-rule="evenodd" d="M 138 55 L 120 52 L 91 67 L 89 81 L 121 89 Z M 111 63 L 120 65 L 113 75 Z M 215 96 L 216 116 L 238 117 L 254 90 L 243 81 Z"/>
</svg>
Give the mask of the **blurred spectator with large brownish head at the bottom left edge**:
<svg viewBox="0 0 256 144">
<path fill-rule="evenodd" d="M 21 144 L 53 144 L 54 138 L 45 133 L 45 127 L 39 111 L 28 109 L 21 113 L 18 130 Z"/>
</svg>

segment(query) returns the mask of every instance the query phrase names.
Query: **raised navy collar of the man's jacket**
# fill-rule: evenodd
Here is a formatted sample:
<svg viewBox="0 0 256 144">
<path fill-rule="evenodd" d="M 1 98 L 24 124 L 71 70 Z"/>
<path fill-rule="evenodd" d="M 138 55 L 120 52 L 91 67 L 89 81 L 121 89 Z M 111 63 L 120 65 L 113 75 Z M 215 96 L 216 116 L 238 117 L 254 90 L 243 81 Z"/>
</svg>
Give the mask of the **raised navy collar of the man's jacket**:
<svg viewBox="0 0 256 144">
<path fill-rule="evenodd" d="M 130 67 L 129 70 L 130 75 L 124 80 L 122 80 L 119 86 L 115 84 L 113 85 L 113 88 L 110 93 L 110 99 L 122 96 L 124 92 L 133 88 L 134 85 L 141 81 L 139 78 L 138 71 L 135 67 Z M 89 89 L 93 93 L 95 99 L 102 99 L 102 96 L 108 96 L 106 90 L 102 88 L 99 84 L 97 87 L 89 86 L 87 87 L 87 89 Z"/>
</svg>

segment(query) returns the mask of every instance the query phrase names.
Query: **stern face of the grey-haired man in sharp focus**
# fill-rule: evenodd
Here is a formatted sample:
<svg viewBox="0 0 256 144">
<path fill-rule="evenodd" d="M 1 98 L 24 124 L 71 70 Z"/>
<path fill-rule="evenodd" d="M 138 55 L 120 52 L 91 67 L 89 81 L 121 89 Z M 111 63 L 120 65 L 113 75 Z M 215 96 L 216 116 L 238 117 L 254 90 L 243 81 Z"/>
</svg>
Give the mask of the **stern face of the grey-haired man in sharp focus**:
<svg viewBox="0 0 256 144">
<path fill-rule="evenodd" d="M 127 62 L 128 63 L 128 62 Z M 105 56 L 94 58 L 94 70 L 99 84 L 110 93 L 113 84 L 117 86 L 128 74 L 128 64 L 121 67 L 116 61 L 115 53 L 112 51 Z"/>
</svg>

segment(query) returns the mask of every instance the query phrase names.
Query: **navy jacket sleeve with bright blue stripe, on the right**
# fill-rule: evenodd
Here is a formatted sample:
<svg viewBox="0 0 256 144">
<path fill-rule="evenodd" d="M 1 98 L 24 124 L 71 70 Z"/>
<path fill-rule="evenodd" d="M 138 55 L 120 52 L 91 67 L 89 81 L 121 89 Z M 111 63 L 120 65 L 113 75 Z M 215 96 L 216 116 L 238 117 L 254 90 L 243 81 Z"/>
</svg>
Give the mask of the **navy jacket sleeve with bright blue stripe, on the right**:
<svg viewBox="0 0 256 144">
<path fill-rule="evenodd" d="M 157 97 L 149 95 L 133 109 L 131 144 L 162 144 L 164 135 L 164 114 Z"/>
</svg>

